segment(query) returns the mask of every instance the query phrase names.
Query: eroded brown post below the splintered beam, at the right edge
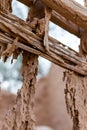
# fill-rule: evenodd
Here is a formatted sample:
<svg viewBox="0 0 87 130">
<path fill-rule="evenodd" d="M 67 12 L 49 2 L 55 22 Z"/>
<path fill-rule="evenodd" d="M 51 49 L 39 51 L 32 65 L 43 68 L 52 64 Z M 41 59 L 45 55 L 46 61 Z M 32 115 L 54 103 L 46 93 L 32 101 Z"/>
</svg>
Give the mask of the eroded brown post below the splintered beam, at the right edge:
<svg viewBox="0 0 87 130">
<path fill-rule="evenodd" d="M 65 100 L 73 130 L 87 130 L 87 76 L 66 74 Z"/>
</svg>

